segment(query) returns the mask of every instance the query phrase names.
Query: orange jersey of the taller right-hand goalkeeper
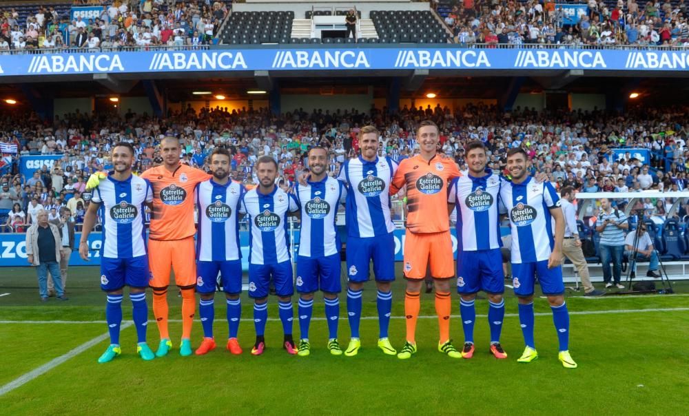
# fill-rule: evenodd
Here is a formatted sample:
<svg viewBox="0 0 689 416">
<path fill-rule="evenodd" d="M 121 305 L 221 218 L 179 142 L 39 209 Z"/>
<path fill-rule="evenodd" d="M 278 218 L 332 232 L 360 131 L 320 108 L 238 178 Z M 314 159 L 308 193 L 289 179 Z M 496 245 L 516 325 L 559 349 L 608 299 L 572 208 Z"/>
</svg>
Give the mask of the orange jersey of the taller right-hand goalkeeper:
<svg viewBox="0 0 689 416">
<path fill-rule="evenodd" d="M 390 184 L 390 194 L 407 185 L 407 229 L 412 233 L 440 233 L 450 229 L 447 186 L 462 176 L 451 158 L 421 155 L 402 160 Z"/>
</svg>

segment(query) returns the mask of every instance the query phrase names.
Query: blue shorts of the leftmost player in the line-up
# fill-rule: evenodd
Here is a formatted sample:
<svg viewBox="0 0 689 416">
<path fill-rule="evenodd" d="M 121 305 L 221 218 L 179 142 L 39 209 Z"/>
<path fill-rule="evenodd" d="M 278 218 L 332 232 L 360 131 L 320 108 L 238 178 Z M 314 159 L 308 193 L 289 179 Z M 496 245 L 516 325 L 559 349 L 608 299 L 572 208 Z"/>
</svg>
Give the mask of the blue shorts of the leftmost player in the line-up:
<svg viewBox="0 0 689 416">
<path fill-rule="evenodd" d="M 101 289 L 112 292 L 129 287 L 148 287 L 151 272 L 148 256 L 134 258 L 101 257 Z"/>
</svg>

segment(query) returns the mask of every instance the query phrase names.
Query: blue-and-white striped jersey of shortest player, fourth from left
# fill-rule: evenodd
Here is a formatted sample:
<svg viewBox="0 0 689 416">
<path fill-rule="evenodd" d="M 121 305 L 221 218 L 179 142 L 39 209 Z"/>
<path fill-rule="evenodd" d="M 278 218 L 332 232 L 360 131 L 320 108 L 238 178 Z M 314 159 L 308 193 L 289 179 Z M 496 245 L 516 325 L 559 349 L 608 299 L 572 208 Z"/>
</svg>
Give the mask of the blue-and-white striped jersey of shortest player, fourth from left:
<svg viewBox="0 0 689 416">
<path fill-rule="evenodd" d="M 287 214 L 298 210 L 294 195 L 277 185 L 267 195 L 258 187 L 244 194 L 239 211 L 249 217 L 249 263 L 278 264 L 291 258 Z"/>
</svg>

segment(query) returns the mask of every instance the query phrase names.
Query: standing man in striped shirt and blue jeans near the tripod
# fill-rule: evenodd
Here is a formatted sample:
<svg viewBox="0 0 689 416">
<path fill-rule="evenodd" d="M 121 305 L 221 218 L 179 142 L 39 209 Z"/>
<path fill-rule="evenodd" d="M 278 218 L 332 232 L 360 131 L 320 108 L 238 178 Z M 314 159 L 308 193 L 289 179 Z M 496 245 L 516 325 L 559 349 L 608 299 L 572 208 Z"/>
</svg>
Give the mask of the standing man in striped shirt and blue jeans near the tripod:
<svg viewBox="0 0 689 416">
<path fill-rule="evenodd" d="M 608 198 L 601 199 L 602 211 L 596 221 L 596 232 L 600 233 L 600 256 L 603 264 L 605 287 L 612 287 L 613 280 L 618 289 L 624 289 L 620 283 L 622 271 L 622 253 L 624 251 L 624 230 L 629 228 L 627 216 L 618 209 L 613 209 Z M 613 275 L 610 275 L 610 260 L 613 260 Z M 611 279 L 612 278 L 612 279 Z"/>
</svg>

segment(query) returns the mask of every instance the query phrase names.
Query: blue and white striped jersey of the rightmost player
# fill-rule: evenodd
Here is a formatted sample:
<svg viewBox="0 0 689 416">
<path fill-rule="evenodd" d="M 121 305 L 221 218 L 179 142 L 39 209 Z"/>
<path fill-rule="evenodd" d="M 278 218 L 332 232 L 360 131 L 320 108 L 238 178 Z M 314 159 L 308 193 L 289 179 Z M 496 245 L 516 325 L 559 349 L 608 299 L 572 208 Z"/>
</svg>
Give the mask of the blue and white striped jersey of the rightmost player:
<svg viewBox="0 0 689 416">
<path fill-rule="evenodd" d="M 553 185 L 536 183 L 531 176 L 520 184 L 503 180 L 500 202 L 510 218 L 512 262 L 548 260 L 555 247 L 550 209 L 560 206 Z"/>
</svg>

